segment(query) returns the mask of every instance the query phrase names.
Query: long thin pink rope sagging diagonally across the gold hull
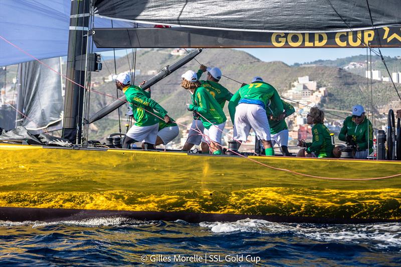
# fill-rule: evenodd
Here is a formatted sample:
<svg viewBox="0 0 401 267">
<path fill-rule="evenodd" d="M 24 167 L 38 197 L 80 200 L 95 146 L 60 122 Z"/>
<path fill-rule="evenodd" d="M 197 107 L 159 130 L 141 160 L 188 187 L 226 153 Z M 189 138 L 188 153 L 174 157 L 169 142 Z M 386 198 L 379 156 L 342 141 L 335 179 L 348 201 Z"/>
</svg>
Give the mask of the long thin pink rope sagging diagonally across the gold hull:
<svg viewBox="0 0 401 267">
<path fill-rule="evenodd" d="M 11 43 L 11 42 L 8 41 L 7 39 L 5 39 L 3 36 L 0 36 L 0 39 L 3 39 L 4 41 L 6 41 L 7 43 L 9 43 L 10 45 L 12 45 L 12 46 L 14 46 L 15 48 L 17 48 L 18 50 L 22 51 L 24 54 L 26 54 L 26 55 L 32 57 L 33 59 L 37 60 L 39 63 L 41 63 L 41 64 L 43 64 L 44 66 L 48 67 L 50 70 L 56 72 L 57 74 L 61 75 L 62 77 L 65 77 L 68 81 L 71 81 L 72 83 L 77 84 L 77 83 L 75 83 L 74 81 L 72 81 L 72 80 L 70 80 L 69 78 L 67 78 L 66 76 L 60 74 L 59 72 L 57 72 L 56 70 L 54 70 L 53 68 L 51 68 L 50 66 L 48 66 L 47 64 L 43 63 L 42 61 L 40 61 L 39 59 L 37 59 L 37 58 L 34 57 L 33 55 L 29 54 L 28 52 L 26 52 L 26 51 L 24 51 L 23 49 L 19 48 L 18 46 L 14 45 L 13 43 Z M 80 86 L 80 87 L 82 87 L 82 88 L 85 88 L 84 86 L 82 86 L 82 85 L 80 85 L 80 84 L 77 84 L 77 85 Z M 86 89 L 87 89 L 87 88 L 86 88 Z M 105 93 L 101 93 L 101 92 L 95 91 L 95 90 L 93 90 L 93 89 L 87 89 L 87 90 L 91 90 L 91 91 L 93 91 L 93 92 L 95 92 L 95 93 L 98 93 L 98 94 L 101 94 L 101 95 L 105 95 L 105 96 L 108 96 L 108 97 L 111 97 L 111 98 L 115 98 L 115 97 L 113 97 L 113 96 L 111 96 L 111 95 L 107 95 L 107 94 L 105 94 Z M 118 98 L 116 98 L 116 99 L 118 99 Z M 124 101 L 124 102 L 129 103 L 128 101 Z M 135 105 L 135 104 L 133 104 L 133 105 Z M 137 106 L 137 105 L 135 105 L 135 106 Z M 159 119 L 163 119 L 163 118 L 157 116 L 156 114 L 154 114 L 154 113 L 151 112 L 151 111 L 148 111 L 148 110 L 145 110 L 145 111 L 147 111 L 148 113 L 152 114 L 153 116 L 155 116 L 155 117 L 157 117 L 157 118 L 159 118 Z M 199 114 L 199 113 L 197 113 L 197 114 Z M 202 116 L 202 115 L 199 114 L 199 116 Z M 202 117 L 203 117 L 203 116 L 202 116 Z M 203 117 L 203 118 L 205 118 L 205 117 Z M 206 119 L 206 118 L 205 118 L 205 119 Z M 207 119 L 206 119 L 206 120 L 207 120 Z M 207 121 L 210 122 L 209 120 L 207 120 Z M 173 121 L 173 122 L 175 122 L 175 123 L 178 124 L 178 125 L 184 126 L 184 127 L 186 127 L 186 128 L 191 128 L 191 127 L 186 126 L 186 125 L 184 125 L 184 124 L 181 124 L 181 123 L 179 123 L 179 122 L 177 122 L 177 121 Z M 211 122 L 210 122 L 210 123 L 211 123 Z M 213 123 L 212 123 L 212 124 L 213 124 Z M 216 126 L 216 125 L 215 125 L 215 126 Z M 216 127 L 217 127 L 217 126 L 216 126 Z M 193 129 L 193 130 L 194 130 L 194 131 L 197 131 L 197 130 L 195 130 L 195 129 Z M 224 132 L 223 132 L 223 133 L 224 133 Z M 200 134 L 202 134 L 202 133 L 200 133 Z M 221 144 L 218 144 L 218 143 L 216 143 L 216 144 L 219 145 L 220 147 L 224 148 Z M 243 157 L 243 158 L 245 158 L 245 159 L 251 160 L 251 161 L 253 161 L 253 162 L 255 162 L 255 163 L 259 164 L 259 165 L 262 165 L 262 166 L 265 166 L 265 167 L 268 167 L 268 168 L 271 168 L 271 169 L 274 169 L 274 170 L 285 171 L 285 172 L 289 172 L 289 173 L 292 173 L 292 174 L 301 175 L 301 176 L 305 176 L 305 177 L 312 177 L 312 178 L 319 178 L 319 179 L 327 179 L 327 180 L 362 181 L 362 180 L 379 180 L 379 179 L 386 179 L 386 178 L 401 176 L 401 173 L 397 173 L 397 174 L 389 175 L 389 176 L 373 177 L 373 178 L 338 178 L 338 177 L 316 176 L 316 175 L 310 175 L 310 174 L 300 173 L 300 172 L 296 172 L 296 171 L 292 171 L 292 170 L 288 170 L 288 169 L 273 167 L 273 166 L 267 165 L 267 164 L 265 164 L 265 163 L 259 162 L 259 161 L 257 161 L 257 160 L 251 159 L 251 158 L 249 158 L 249 157 L 246 157 L 246 156 L 244 156 L 244 155 L 241 155 L 241 154 L 238 153 L 237 151 L 234 151 L 234 150 L 229 149 L 229 148 L 227 149 L 227 151 L 230 151 L 230 152 L 232 152 L 232 153 L 234 153 L 234 154 L 236 154 L 236 155 L 238 155 L 238 156 L 241 156 L 241 157 Z"/>
</svg>

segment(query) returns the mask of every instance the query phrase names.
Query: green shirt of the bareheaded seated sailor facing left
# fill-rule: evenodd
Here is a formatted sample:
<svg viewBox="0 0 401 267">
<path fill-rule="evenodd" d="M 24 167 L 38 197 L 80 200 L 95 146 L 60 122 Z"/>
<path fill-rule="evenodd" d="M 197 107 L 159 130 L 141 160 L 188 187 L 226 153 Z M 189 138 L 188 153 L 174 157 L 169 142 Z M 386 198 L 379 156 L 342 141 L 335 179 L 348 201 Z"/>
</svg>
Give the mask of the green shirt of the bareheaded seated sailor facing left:
<svg viewBox="0 0 401 267">
<path fill-rule="evenodd" d="M 306 152 L 315 152 L 318 158 L 333 157 L 333 145 L 329 129 L 323 123 L 312 127 L 312 143 L 306 143 Z"/>
</svg>

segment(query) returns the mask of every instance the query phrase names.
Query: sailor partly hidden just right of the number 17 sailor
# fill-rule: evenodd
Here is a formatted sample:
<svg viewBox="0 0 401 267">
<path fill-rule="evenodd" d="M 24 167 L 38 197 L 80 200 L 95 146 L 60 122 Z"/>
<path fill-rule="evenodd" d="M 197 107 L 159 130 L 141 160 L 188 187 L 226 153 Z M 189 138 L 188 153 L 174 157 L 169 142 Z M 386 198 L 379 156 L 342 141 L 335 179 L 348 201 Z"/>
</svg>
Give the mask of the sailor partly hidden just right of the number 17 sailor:
<svg viewBox="0 0 401 267">
<path fill-rule="evenodd" d="M 284 111 L 278 117 L 273 116 L 274 108 L 271 107 L 271 105 L 273 104 L 267 106 L 266 115 L 267 119 L 269 120 L 272 146 L 274 147 L 275 144 L 278 144 L 283 156 L 291 156 L 291 153 L 288 152 L 287 148 L 288 127 L 287 123 L 285 122 L 285 118 L 293 114 L 295 112 L 295 109 L 291 104 L 283 100 L 281 100 L 281 103 L 283 104 Z"/>
</svg>

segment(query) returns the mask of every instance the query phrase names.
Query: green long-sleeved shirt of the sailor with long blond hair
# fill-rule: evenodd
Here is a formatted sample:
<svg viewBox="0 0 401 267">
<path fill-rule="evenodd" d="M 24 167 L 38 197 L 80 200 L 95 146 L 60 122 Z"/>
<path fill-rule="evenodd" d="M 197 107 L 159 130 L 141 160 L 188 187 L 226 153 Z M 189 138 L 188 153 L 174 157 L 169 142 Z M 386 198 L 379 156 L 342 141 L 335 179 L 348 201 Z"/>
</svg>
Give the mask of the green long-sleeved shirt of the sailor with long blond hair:
<svg viewBox="0 0 401 267">
<path fill-rule="evenodd" d="M 219 103 L 217 103 L 216 99 L 202 86 L 196 88 L 193 92 L 192 105 L 189 105 L 189 109 L 206 118 L 200 117 L 206 129 L 209 129 L 213 124 L 221 124 L 227 120 Z"/>
</svg>

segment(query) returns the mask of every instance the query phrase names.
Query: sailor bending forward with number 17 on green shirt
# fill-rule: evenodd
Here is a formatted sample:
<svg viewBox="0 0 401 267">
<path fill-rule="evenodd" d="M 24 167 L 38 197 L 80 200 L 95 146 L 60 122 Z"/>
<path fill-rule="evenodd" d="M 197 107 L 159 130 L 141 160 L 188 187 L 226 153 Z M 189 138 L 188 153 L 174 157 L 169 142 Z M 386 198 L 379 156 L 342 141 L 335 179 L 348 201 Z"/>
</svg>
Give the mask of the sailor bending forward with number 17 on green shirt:
<svg viewBox="0 0 401 267">
<path fill-rule="evenodd" d="M 252 128 L 257 138 L 262 140 L 266 156 L 274 156 L 270 140 L 270 126 L 266 115 L 266 106 L 269 100 L 273 103 L 273 116 L 278 117 L 283 113 L 283 104 L 279 94 L 261 77 L 254 77 L 252 83 L 243 84 L 231 98 L 229 112 L 234 124 L 235 140 L 240 143 L 246 142 Z"/>
</svg>

